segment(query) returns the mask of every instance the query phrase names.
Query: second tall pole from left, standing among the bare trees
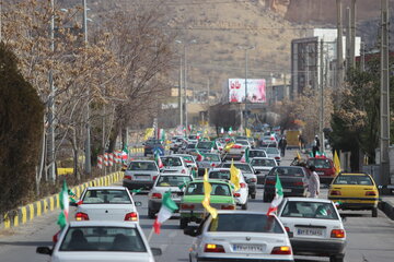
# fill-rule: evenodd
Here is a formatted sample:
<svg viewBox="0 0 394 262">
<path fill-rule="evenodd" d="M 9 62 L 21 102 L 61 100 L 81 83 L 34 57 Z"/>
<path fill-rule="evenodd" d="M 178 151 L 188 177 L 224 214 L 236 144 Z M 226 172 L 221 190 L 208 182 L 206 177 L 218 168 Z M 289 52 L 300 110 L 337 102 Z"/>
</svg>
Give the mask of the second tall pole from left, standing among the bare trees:
<svg viewBox="0 0 394 262">
<path fill-rule="evenodd" d="M 83 3 L 83 44 L 88 47 L 88 16 L 86 16 L 86 0 L 82 0 Z M 89 105 L 90 91 L 88 87 L 88 103 L 86 103 L 86 140 L 85 140 L 85 172 L 90 175 L 92 172 L 91 164 L 91 133 L 90 133 L 90 105 Z"/>
</svg>

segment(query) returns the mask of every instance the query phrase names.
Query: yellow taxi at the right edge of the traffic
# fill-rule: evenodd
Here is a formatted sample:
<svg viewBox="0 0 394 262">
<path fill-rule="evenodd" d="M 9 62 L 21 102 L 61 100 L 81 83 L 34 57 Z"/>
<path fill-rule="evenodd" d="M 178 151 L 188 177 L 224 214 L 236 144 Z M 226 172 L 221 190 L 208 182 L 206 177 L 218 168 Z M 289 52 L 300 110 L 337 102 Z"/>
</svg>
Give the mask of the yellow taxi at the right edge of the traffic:
<svg viewBox="0 0 394 262">
<path fill-rule="evenodd" d="M 328 199 L 340 210 L 371 210 L 378 216 L 379 191 L 368 174 L 339 174 L 328 190 Z"/>
</svg>

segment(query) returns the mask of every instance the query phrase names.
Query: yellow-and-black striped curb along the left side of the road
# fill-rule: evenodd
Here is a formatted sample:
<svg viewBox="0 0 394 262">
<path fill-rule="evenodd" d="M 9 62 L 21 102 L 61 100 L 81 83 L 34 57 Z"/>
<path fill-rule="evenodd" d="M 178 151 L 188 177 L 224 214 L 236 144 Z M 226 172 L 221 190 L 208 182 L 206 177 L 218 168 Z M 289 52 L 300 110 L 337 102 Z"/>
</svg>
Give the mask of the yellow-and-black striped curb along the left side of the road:
<svg viewBox="0 0 394 262">
<path fill-rule="evenodd" d="M 95 178 L 94 180 L 91 180 L 89 182 L 76 186 L 71 188 L 71 190 L 76 193 L 77 198 L 79 198 L 86 187 L 105 187 L 119 181 L 121 178 L 121 171 L 112 172 L 107 176 Z M 5 213 L 3 219 L 0 219 L 0 229 L 18 227 L 30 221 L 33 221 L 35 217 L 57 210 L 59 209 L 59 194 L 53 194 L 31 204 L 21 206 L 18 210 L 9 211 Z"/>
</svg>

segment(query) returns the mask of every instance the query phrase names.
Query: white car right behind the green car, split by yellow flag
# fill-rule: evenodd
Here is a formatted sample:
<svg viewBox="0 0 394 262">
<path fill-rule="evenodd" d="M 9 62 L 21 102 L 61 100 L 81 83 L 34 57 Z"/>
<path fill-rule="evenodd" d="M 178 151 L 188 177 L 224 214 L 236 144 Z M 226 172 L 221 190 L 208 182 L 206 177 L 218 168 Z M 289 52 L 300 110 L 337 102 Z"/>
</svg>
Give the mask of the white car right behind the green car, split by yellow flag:
<svg viewBox="0 0 394 262">
<path fill-rule="evenodd" d="M 230 168 L 213 168 L 208 172 L 208 177 L 211 179 L 224 179 L 230 181 Z M 247 210 L 247 196 L 248 196 L 248 188 L 247 183 L 240 172 L 240 189 L 234 192 L 234 199 L 237 205 L 241 205 L 242 210 Z"/>
</svg>

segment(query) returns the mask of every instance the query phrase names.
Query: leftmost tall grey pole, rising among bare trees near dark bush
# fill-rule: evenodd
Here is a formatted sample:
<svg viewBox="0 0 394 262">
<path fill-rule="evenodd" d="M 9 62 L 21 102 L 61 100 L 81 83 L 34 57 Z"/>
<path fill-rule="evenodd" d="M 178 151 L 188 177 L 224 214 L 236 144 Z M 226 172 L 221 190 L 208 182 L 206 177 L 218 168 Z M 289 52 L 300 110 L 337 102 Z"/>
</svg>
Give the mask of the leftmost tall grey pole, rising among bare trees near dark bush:
<svg viewBox="0 0 394 262">
<path fill-rule="evenodd" d="M 49 28 L 49 35 L 50 35 L 50 51 L 55 51 L 55 0 L 50 0 L 50 28 Z M 55 155 L 55 84 L 54 84 L 54 71 L 53 69 L 49 70 L 49 99 L 48 99 L 48 163 L 49 163 L 49 181 L 55 183 L 56 180 L 56 155 Z"/>
</svg>

